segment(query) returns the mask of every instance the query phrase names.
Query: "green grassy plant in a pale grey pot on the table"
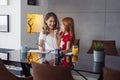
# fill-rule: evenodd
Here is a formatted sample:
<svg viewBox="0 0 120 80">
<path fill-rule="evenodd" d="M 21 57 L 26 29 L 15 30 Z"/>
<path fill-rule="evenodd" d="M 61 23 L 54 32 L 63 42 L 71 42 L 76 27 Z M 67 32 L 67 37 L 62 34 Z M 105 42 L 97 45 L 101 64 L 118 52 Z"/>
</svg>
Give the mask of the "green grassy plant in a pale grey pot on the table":
<svg viewBox="0 0 120 80">
<path fill-rule="evenodd" d="M 93 56 L 95 62 L 104 62 L 105 53 L 104 53 L 104 44 L 102 42 L 94 43 Z"/>
</svg>

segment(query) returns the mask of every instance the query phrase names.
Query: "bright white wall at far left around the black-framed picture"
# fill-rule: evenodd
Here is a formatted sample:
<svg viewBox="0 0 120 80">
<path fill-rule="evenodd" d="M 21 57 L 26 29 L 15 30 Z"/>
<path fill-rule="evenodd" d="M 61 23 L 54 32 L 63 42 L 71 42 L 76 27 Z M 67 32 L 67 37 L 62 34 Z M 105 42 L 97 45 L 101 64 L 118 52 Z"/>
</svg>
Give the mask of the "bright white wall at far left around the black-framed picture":
<svg viewBox="0 0 120 80">
<path fill-rule="evenodd" d="M 0 5 L 0 15 L 9 15 L 10 32 L 0 32 L 0 48 L 20 48 L 20 1 L 8 0 L 7 6 Z"/>
</svg>

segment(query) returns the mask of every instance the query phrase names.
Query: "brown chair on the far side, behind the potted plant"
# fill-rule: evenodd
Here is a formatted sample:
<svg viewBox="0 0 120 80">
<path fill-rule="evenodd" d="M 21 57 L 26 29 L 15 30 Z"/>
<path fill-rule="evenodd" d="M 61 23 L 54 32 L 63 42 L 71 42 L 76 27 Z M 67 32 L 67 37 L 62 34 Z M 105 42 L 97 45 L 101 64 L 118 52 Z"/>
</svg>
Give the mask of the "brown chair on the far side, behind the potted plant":
<svg viewBox="0 0 120 80">
<path fill-rule="evenodd" d="M 96 42 L 101 42 L 104 44 L 106 55 L 118 56 L 115 40 L 93 40 L 92 45 L 87 53 L 93 53 L 94 43 Z"/>
</svg>

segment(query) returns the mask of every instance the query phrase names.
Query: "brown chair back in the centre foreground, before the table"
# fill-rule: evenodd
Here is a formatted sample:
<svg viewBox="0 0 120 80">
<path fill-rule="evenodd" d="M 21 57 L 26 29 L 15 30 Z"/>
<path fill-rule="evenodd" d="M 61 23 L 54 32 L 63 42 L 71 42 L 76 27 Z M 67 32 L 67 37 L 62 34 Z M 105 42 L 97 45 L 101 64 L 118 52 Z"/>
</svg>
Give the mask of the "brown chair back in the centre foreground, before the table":
<svg viewBox="0 0 120 80">
<path fill-rule="evenodd" d="M 34 80 L 74 80 L 70 67 L 32 62 Z"/>
</svg>

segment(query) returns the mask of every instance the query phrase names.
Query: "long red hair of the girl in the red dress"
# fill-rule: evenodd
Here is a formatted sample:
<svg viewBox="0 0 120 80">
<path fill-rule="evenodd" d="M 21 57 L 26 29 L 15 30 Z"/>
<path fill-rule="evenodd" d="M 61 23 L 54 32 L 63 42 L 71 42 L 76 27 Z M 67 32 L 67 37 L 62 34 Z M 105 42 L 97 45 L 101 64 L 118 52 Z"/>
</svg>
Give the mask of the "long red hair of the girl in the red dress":
<svg viewBox="0 0 120 80">
<path fill-rule="evenodd" d="M 74 44 L 75 32 L 74 32 L 74 20 L 71 17 L 65 17 L 62 19 L 62 24 L 65 26 L 65 31 L 69 32 L 71 35 L 71 46 Z"/>
</svg>

